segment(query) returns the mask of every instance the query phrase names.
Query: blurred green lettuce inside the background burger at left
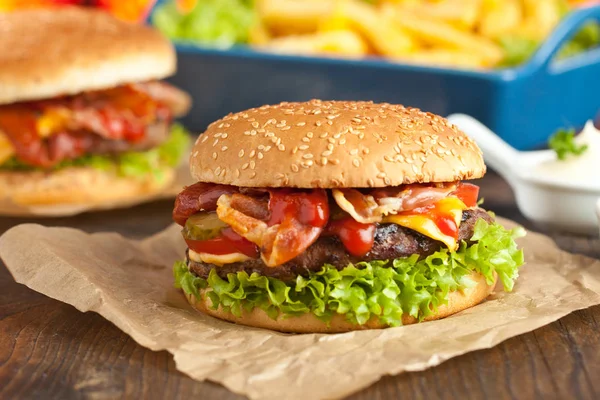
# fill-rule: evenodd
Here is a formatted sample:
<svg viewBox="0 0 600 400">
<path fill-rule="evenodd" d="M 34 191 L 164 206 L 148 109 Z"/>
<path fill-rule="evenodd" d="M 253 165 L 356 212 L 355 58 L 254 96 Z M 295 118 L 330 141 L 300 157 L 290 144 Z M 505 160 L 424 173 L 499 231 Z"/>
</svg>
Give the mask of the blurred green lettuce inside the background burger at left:
<svg viewBox="0 0 600 400">
<path fill-rule="evenodd" d="M 53 170 L 68 167 L 92 167 L 102 170 L 114 169 L 119 176 L 145 178 L 153 175 L 160 180 L 166 167 L 176 167 L 188 151 L 190 135 L 180 124 L 173 124 L 169 137 L 160 146 L 147 151 L 131 151 L 117 155 L 86 155 L 73 160 L 65 160 Z M 25 164 L 16 158 L 7 160 L 0 170 L 34 171 L 38 168 Z"/>
</svg>

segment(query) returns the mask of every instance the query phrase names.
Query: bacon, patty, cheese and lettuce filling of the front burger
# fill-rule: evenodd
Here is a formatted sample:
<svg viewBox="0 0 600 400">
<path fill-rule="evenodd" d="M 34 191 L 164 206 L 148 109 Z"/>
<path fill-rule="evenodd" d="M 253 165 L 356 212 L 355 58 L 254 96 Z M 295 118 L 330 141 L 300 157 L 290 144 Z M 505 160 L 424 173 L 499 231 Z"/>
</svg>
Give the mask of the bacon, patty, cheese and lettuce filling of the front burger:
<svg viewBox="0 0 600 400">
<path fill-rule="evenodd" d="M 424 318 L 476 271 L 512 289 L 523 263 L 514 238 L 454 182 L 383 189 L 238 188 L 208 183 L 176 199 L 187 260 L 176 284 L 234 314 L 340 313 L 398 325 Z"/>
</svg>

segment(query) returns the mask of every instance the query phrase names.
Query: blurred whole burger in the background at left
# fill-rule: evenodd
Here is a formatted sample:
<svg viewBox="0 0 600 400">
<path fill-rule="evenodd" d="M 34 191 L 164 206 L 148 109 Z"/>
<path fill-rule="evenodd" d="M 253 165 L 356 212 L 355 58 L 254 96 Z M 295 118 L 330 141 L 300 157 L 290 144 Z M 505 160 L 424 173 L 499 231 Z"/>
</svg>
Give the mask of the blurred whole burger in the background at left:
<svg viewBox="0 0 600 400">
<path fill-rule="evenodd" d="M 0 198 L 95 204 L 163 191 L 189 96 L 155 30 L 77 7 L 0 14 Z"/>
</svg>

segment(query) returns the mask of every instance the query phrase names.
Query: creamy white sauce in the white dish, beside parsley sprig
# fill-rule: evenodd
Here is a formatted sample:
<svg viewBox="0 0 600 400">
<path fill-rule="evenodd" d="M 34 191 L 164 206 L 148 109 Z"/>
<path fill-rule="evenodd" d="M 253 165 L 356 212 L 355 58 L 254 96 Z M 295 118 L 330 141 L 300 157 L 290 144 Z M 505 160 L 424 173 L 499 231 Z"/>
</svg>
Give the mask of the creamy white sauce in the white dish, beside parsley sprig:
<svg viewBox="0 0 600 400">
<path fill-rule="evenodd" d="M 583 131 L 575 137 L 578 145 L 587 145 L 583 154 L 569 154 L 565 160 L 555 157 L 540 163 L 536 168 L 537 174 L 556 180 L 577 183 L 600 181 L 600 131 L 589 121 Z"/>
</svg>

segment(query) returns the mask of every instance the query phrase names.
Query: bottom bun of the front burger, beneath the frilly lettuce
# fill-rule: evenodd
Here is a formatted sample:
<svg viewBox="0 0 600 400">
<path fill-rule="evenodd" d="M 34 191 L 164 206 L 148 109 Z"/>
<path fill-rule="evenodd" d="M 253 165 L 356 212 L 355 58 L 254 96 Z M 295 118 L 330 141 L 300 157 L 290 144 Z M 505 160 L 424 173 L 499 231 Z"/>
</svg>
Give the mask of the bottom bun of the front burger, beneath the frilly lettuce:
<svg viewBox="0 0 600 400">
<path fill-rule="evenodd" d="M 423 320 L 433 321 L 476 306 L 492 293 L 494 286 L 496 286 L 498 276 L 495 275 L 494 283 L 491 285 L 488 285 L 485 277 L 477 272 L 471 273 L 469 278 L 475 282 L 474 286 L 463 289 L 462 291 L 450 292 L 448 294 L 448 303 L 439 306 L 434 314 Z M 348 322 L 341 314 L 335 314 L 329 324 L 319 320 L 313 314 L 304 314 L 298 317 L 286 317 L 280 315 L 277 319 L 272 319 L 260 308 L 254 308 L 250 312 L 242 311 L 242 315 L 236 317 L 230 312 L 223 311 L 221 307 L 216 310 L 212 309 L 212 303 L 208 296 L 204 296 L 204 291 L 201 291 L 202 300 L 197 300 L 194 295 L 186 295 L 192 307 L 204 314 L 240 325 L 289 333 L 341 333 L 361 329 L 388 328 L 388 325 L 379 322 L 377 318 L 371 318 L 364 325 L 354 325 Z M 410 315 L 402 316 L 402 324 L 404 325 L 417 322 L 418 320 Z"/>
</svg>

